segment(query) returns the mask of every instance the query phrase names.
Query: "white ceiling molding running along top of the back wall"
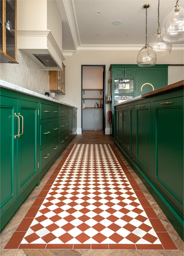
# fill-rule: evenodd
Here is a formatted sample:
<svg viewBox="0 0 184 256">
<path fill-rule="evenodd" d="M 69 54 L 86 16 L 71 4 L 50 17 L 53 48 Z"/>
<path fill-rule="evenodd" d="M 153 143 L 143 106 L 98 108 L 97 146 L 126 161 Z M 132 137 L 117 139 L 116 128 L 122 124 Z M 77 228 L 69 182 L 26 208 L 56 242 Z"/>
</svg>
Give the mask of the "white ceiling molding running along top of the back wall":
<svg viewBox="0 0 184 256">
<path fill-rule="evenodd" d="M 80 45 L 80 51 L 140 51 L 144 45 Z M 184 50 L 184 45 L 172 45 L 172 50 Z"/>
</svg>

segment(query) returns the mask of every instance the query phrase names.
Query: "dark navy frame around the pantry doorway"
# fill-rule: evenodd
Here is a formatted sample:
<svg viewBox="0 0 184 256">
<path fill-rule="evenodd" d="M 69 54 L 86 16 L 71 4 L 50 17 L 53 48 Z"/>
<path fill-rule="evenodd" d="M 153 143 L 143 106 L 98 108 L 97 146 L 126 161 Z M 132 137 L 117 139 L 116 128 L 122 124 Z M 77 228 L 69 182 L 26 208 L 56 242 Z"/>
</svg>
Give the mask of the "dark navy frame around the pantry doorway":
<svg viewBox="0 0 184 256">
<path fill-rule="evenodd" d="M 83 134 L 83 67 L 104 67 L 103 72 L 103 133 L 105 134 L 105 65 L 81 65 L 81 130 Z"/>
</svg>

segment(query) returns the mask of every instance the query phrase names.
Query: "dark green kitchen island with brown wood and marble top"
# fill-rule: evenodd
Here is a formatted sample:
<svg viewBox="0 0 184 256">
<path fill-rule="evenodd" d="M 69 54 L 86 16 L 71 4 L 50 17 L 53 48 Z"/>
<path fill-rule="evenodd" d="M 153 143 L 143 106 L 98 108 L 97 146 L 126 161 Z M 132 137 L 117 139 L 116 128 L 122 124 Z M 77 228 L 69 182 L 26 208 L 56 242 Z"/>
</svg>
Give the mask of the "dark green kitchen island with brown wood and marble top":
<svg viewBox="0 0 184 256">
<path fill-rule="evenodd" d="M 184 80 L 114 108 L 115 145 L 184 227 Z"/>
</svg>

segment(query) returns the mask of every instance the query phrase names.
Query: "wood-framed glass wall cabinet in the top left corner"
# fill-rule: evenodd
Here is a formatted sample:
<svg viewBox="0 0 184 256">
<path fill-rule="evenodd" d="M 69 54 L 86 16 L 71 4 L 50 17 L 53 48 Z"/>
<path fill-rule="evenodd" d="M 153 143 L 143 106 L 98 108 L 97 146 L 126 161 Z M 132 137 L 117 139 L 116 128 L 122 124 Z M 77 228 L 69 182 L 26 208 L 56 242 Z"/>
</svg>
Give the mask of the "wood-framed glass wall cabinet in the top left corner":
<svg viewBox="0 0 184 256">
<path fill-rule="evenodd" d="M 17 63 L 17 0 L 0 1 L 0 63 Z"/>
</svg>

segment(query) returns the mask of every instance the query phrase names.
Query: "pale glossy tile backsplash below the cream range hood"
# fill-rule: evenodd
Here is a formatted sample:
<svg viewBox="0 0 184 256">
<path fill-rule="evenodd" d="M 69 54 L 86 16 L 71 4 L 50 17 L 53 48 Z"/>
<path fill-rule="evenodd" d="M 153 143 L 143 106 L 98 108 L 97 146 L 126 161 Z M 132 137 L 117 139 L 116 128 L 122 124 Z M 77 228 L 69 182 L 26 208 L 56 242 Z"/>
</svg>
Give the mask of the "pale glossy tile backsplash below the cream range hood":
<svg viewBox="0 0 184 256">
<path fill-rule="evenodd" d="M 49 91 L 49 71 L 42 70 L 22 51 L 17 51 L 19 64 L 0 64 L 0 79 L 40 94 Z M 59 95 L 57 95 L 59 99 Z"/>
</svg>

